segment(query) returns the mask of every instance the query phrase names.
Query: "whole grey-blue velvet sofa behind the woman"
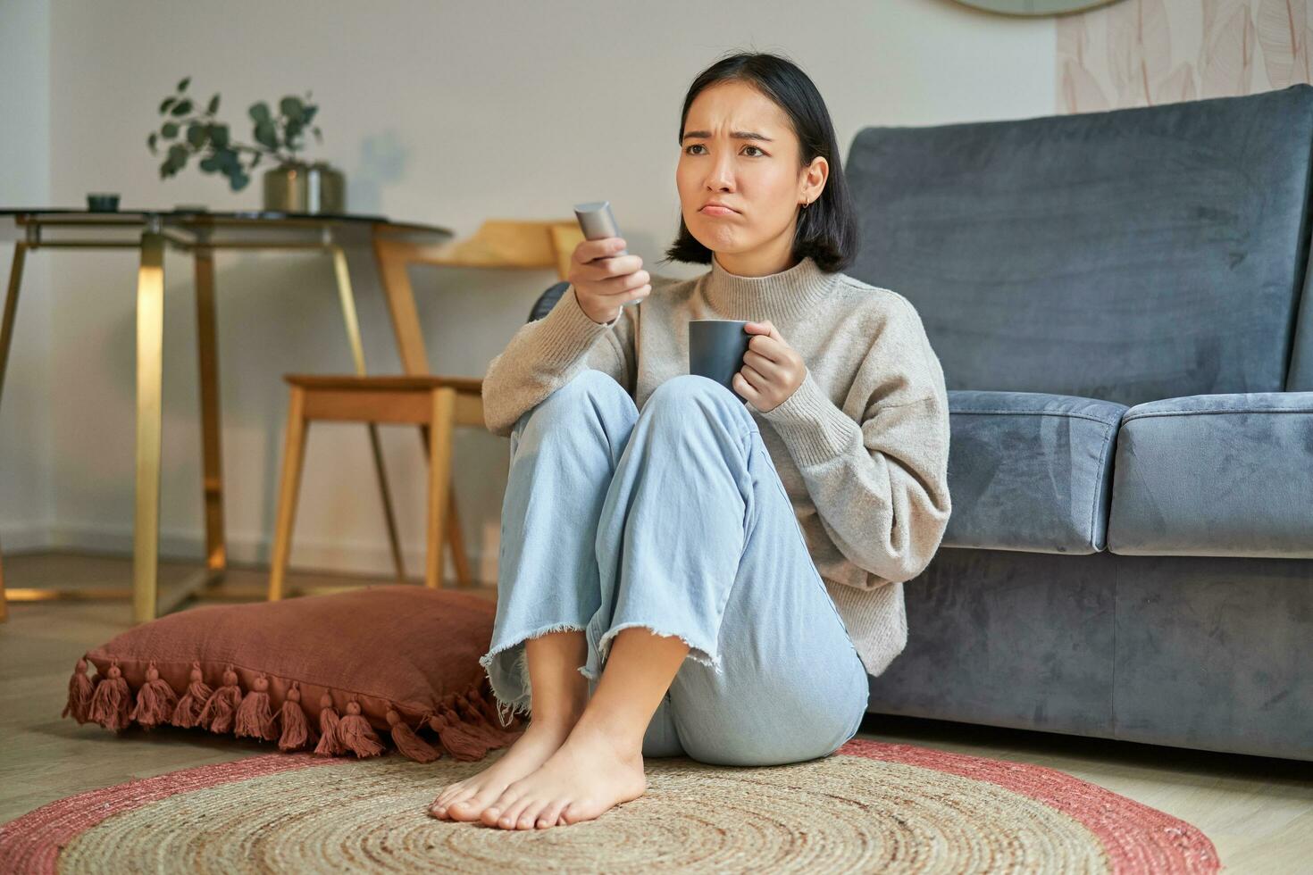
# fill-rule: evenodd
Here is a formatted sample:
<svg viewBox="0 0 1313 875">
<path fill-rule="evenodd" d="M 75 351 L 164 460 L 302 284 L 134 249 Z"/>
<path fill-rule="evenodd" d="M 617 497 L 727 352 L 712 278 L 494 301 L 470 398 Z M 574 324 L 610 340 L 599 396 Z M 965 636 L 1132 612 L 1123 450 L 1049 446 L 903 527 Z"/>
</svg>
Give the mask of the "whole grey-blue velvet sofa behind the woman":
<svg viewBox="0 0 1313 875">
<path fill-rule="evenodd" d="M 1310 85 L 857 134 L 952 417 L 872 712 L 1313 760 L 1310 153 Z"/>
</svg>

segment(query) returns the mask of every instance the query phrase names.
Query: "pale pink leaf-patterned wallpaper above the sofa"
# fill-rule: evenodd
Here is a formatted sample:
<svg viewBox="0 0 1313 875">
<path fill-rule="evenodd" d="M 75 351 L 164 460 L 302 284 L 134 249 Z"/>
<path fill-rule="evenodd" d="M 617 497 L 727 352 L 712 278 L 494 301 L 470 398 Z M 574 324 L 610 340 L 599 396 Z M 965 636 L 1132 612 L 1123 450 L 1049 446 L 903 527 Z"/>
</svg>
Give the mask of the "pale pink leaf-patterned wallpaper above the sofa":
<svg viewBox="0 0 1313 875">
<path fill-rule="evenodd" d="M 1313 84 L 1310 0 L 1119 0 L 1057 20 L 1060 113 Z"/>
</svg>

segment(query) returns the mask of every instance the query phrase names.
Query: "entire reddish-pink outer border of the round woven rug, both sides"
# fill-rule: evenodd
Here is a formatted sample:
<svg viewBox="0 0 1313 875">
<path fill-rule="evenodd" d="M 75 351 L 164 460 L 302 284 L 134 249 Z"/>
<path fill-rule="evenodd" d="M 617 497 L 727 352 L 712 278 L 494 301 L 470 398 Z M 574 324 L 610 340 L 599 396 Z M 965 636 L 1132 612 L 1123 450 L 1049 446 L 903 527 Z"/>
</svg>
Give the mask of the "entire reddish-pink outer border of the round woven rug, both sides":
<svg viewBox="0 0 1313 875">
<path fill-rule="evenodd" d="M 1094 833 L 1117 875 L 1211 874 L 1222 868 L 1196 826 L 1048 766 L 852 739 L 832 756 L 855 756 L 987 781 L 1061 811 Z M 268 753 L 180 769 L 56 799 L 0 825 L 0 871 L 53 875 L 60 849 L 102 820 L 175 794 L 293 769 L 349 762 L 310 752 Z"/>
</svg>

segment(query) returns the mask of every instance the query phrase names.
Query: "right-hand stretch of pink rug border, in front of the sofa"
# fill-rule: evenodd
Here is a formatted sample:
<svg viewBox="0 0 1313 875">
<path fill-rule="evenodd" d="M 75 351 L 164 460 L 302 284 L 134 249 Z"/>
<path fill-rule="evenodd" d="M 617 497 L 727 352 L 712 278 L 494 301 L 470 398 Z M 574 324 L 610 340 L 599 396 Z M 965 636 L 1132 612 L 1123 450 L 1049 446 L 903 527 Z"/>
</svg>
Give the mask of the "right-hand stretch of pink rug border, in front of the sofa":
<svg viewBox="0 0 1313 875">
<path fill-rule="evenodd" d="M 1203 875 L 1224 868 L 1197 826 L 1057 769 L 868 739 L 852 739 L 834 756 L 947 771 L 1043 802 L 1094 833 L 1116 875 Z"/>
</svg>

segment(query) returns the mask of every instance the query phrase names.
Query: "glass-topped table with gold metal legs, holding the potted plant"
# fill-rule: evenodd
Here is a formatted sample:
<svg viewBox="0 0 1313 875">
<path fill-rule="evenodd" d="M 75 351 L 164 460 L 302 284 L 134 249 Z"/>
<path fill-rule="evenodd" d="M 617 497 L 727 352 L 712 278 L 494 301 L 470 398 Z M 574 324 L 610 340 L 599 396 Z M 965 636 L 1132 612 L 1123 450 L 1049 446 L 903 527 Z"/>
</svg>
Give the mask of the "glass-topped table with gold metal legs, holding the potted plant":
<svg viewBox="0 0 1313 875">
<path fill-rule="evenodd" d="M 223 533 L 223 476 L 219 446 L 218 344 L 215 338 L 214 253 L 219 249 L 318 249 L 332 257 L 339 306 L 345 323 L 355 370 L 365 374 L 348 252 L 372 251 L 387 302 L 402 367 L 428 374 L 428 357 L 406 265 L 441 262 L 453 239 L 448 228 L 393 222 L 381 215 L 324 215 L 269 211 L 167 210 L 89 211 L 59 207 L 0 209 L 0 243 L 13 243 L 4 317 L 0 323 L 0 396 L 13 338 L 24 262 L 41 249 L 131 248 L 140 252 L 137 272 L 137 481 L 133 526 L 133 619 L 146 622 L 168 613 L 202 586 L 221 579 L 227 565 Z M 189 253 L 194 261 L 197 356 L 201 370 L 202 496 L 205 504 L 206 568 L 159 597 L 160 441 L 164 356 L 164 249 Z M 390 502 L 377 428 L 369 425 L 374 467 Z M 400 567 L 393 514 L 387 508 L 393 556 Z M 0 577 L 3 581 L 3 577 Z M 0 593 L 3 593 L 0 584 Z M 17 590 L 11 590 L 17 596 Z M 118 590 L 22 590 L 18 598 L 125 597 Z"/>
</svg>

